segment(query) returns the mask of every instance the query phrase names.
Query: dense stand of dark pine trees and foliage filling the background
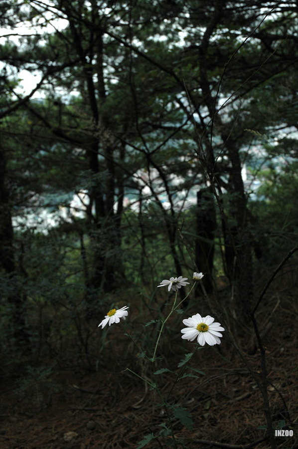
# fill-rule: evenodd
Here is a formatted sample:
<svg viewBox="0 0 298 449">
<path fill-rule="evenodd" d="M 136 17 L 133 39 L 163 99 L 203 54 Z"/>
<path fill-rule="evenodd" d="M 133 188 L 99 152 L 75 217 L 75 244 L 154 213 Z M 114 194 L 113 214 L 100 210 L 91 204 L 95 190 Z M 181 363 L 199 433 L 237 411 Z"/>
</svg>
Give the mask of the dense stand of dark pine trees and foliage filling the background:
<svg viewBox="0 0 298 449">
<path fill-rule="evenodd" d="M 209 290 L 225 274 L 247 313 L 256 261 L 297 236 L 296 208 L 281 207 L 297 183 L 297 12 L 294 0 L 2 1 L 1 275 L 22 285 L 3 298 L 36 299 L 40 239 L 61 301 L 65 276 L 87 315 L 100 292 L 193 262 Z"/>
</svg>

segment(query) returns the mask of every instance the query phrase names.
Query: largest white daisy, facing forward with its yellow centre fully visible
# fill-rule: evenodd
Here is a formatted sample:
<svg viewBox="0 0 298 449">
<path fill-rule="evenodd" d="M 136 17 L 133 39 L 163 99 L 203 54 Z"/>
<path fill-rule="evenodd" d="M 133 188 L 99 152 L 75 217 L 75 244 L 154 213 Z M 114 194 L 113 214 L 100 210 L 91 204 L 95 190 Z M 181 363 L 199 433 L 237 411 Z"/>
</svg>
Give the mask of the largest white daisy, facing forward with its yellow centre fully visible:
<svg viewBox="0 0 298 449">
<path fill-rule="evenodd" d="M 199 313 L 192 315 L 191 318 L 183 320 L 185 327 L 181 330 L 182 338 L 185 340 L 193 341 L 197 338 L 199 345 L 204 346 L 207 343 L 210 346 L 219 345 L 222 334 L 219 331 L 224 331 L 220 323 L 213 323 L 214 318 L 212 316 L 204 316 L 203 318 Z"/>
</svg>

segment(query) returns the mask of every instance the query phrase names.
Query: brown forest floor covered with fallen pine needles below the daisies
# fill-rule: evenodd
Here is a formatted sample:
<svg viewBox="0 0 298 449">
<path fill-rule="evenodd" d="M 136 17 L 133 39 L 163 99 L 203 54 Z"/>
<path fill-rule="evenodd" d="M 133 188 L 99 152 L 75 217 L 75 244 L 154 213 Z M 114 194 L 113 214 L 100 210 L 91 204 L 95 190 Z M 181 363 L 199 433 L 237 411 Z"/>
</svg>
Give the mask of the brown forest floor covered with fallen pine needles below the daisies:
<svg viewBox="0 0 298 449">
<path fill-rule="evenodd" d="M 291 427 L 284 429 L 294 430 L 292 437 L 275 440 L 278 448 L 298 448 L 298 304 L 294 294 L 273 299 L 274 313 L 264 316 L 264 324 L 269 323 L 264 345 L 270 407 L 276 429 L 285 421 Z M 127 337 L 121 339 L 121 332 L 115 330 L 110 346 L 115 357 L 108 357 L 97 372 L 68 362 L 56 366 L 49 385 L 37 379 L 23 394 L 17 376 L 2 376 L 0 449 L 135 449 L 146 435 L 156 435 L 166 423 L 165 410 L 157 405 L 156 392 L 125 370 L 121 353 Z M 260 352 L 253 335 L 244 332 L 237 342 L 247 349 L 246 359 L 259 376 Z M 191 345 L 183 341 L 184 352 L 192 350 L 187 344 Z M 181 348 L 180 336 L 173 338 L 171 346 Z M 175 436 L 189 449 L 269 448 L 266 430 L 259 429 L 266 425 L 262 395 L 229 339 L 223 338 L 220 346 L 206 345 L 195 356 L 191 365 L 205 376 L 182 379 L 169 397 L 170 404 L 191 413 L 193 429 L 187 430 L 176 419 Z M 163 366 L 177 370 L 183 358 L 183 352 L 172 350 L 164 356 Z M 136 370 L 144 375 L 140 366 Z M 172 386 L 172 376 L 168 372 L 158 376 L 164 395 Z M 170 437 L 163 437 L 147 448 L 165 448 L 168 443 Z"/>
</svg>

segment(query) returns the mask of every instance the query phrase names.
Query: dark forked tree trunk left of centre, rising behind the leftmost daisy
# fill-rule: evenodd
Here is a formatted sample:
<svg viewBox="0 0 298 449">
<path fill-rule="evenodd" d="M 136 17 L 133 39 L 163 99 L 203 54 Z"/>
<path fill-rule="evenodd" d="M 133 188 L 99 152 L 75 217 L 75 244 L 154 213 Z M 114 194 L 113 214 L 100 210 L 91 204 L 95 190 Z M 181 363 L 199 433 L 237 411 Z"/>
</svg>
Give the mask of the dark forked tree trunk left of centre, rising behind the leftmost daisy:
<svg viewBox="0 0 298 449">
<path fill-rule="evenodd" d="M 63 7 L 68 16 L 74 47 L 81 59 L 90 116 L 92 118 L 91 131 L 93 137 L 91 137 L 89 144 L 86 146 L 86 156 L 92 175 L 92 187 L 89 188 L 90 207 L 87 214 L 89 214 L 89 221 L 93 226 L 90 236 L 94 249 L 93 270 L 92 274 L 89 275 L 87 285 L 89 290 L 88 302 L 90 303 L 94 301 L 94 298 L 98 297 L 98 289 L 103 289 L 104 291 L 114 290 L 121 279 L 119 273 L 124 273 L 121 261 L 120 232 L 123 195 L 118 197 L 118 203 L 120 204 L 116 213 L 114 211 L 116 194 L 115 142 L 110 131 L 109 115 L 104 112 L 104 104 L 106 102 L 104 30 L 100 22 L 98 5 L 96 2 L 92 2 L 92 17 L 94 21 L 92 23 L 92 46 L 89 49 L 88 56 L 83 48 L 85 37 L 81 34 L 81 29 L 78 25 L 79 20 L 76 21 L 74 18 L 72 6 L 68 2 L 63 2 Z M 92 61 L 91 70 L 90 61 Z M 94 77 L 94 71 L 97 73 L 97 80 Z M 98 160 L 99 151 L 104 156 L 104 161 L 101 165 Z M 95 206 L 94 215 L 92 206 Z"/>
</svg>

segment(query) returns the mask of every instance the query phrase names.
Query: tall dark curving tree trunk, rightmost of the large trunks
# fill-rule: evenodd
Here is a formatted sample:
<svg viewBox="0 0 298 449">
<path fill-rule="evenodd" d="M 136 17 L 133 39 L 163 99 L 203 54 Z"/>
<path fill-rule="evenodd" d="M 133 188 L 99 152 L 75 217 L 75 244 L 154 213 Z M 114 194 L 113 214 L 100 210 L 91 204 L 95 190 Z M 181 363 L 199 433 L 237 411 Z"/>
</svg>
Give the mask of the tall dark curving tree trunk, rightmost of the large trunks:
<svg viewBox="0 0 298 449">
<path fill-rule="evenodd" d="M 221 135 L 231 162 L 230 182 L 227 187 L 230 194 L 228 199 L 229 218 L 222 217 L 225 244 L 227 244 L 226 267 L 235 287 L 234 307 L 237 310 L 237 317 L 247 321 L 249 319 L 249 306 L 252 297 L 252 253 L 249 244 L 247 201 L 241 176 L 239 148 L 237 142 L 233 139 L 232 133 L 229 132 L 230 129 L 233 129 L 232 124 L 227 126 L 221 118 L 220 110 L 216 110 L 216 97 L 212 96 L 210 90 L 208 62 L 206 59 L 210 37 L 220 22 L 224 6 L 225 0 L 218 1 L 199 46 L 200 84 L 204 101 L 212 120 L 212 127 L 216 127 Z M 213 158 L 212 140 L 207 151 L 210 154 L 206 158 L 206 162 L 209 162 Z M 214 166 L 209 165 L 207 167 L 210 181 L 215 185 L 213 170 Z"/>
</svg>

